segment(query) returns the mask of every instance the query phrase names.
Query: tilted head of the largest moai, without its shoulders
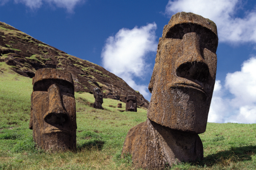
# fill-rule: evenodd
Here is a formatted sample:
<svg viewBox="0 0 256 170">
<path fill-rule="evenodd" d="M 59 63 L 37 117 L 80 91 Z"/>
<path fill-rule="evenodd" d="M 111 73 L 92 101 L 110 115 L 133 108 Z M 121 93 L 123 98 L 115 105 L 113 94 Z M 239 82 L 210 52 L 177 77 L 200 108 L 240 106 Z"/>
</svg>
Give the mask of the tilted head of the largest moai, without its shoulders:
<svg viewBox="0 0 256 170">
<path fill-rule="evenodd" d="M 148 118 L 174 130 L 204 133 L 215 84 L 215 23 L 180 12 L 164 26 L 151 81 Z"/>
</svg>

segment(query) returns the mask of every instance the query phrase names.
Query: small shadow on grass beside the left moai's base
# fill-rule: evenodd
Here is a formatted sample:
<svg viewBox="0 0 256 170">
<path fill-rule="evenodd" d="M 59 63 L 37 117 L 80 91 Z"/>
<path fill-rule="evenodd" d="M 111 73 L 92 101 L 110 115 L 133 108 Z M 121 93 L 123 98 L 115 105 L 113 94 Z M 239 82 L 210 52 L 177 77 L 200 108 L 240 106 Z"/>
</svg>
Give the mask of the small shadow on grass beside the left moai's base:
<svg viewBox="0 0 256 170">
<path fill-rule="evenodd" d="M 83 150 L 83 149 L 86 149 L 86 150 L 91 150 L 91 149 L 102 150 L 102 147 L 103 147 L 104 144 L 105 144 L 104 141 L 94 139 L 94 140 L 84 142 L 82 144 L 78 144 L 77 150 Z"/>
</svg>

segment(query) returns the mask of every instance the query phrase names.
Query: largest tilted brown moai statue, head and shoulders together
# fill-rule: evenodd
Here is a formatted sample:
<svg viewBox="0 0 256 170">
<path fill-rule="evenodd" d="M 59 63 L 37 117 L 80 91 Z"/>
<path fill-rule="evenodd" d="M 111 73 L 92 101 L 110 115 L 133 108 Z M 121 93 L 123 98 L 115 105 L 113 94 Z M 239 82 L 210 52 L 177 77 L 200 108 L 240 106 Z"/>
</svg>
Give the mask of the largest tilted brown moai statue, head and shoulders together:
<svg viewBox="0 0 256 170">
<path fill-rule="evenodd" d="M 148 85 L 148 119 L 129 130 L 122 149 L 135 167 L 164 169 L 203 159 L 198 134 L 206 130 L 217 46 L 215 23 L 200 15 L 180 12 L 164 26 Z"/>
</svg>

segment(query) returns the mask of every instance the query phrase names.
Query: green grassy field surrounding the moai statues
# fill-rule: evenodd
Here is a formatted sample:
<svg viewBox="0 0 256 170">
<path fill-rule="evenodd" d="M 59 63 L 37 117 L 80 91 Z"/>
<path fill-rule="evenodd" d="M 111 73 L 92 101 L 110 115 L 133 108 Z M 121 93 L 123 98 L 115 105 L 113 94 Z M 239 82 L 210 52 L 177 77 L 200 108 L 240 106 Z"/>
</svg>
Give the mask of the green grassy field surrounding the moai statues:
<svg viewBox="0 0 256 170">
<path fill-rule="evenodd" d="M 76 93 L 78 150 L 44 152 L 35 148 L 28 128 L 32 79 L 12 73 L 1 62 L 0 71 L 0 170 L 134 169 L 131 157 L 121 159 L 120 155 L 128 130 L 146 120 L 145 109 L 120 112 L 112 107 L 119 101 L 104 99 L 104 110 L 97 110 L 90 107 L 92 94 Z M 255 170 L 255 132 L 256 124 L 208 123 L 207 131 L 200 134 L 204 160 L 166 169 Z"/>
</svg>

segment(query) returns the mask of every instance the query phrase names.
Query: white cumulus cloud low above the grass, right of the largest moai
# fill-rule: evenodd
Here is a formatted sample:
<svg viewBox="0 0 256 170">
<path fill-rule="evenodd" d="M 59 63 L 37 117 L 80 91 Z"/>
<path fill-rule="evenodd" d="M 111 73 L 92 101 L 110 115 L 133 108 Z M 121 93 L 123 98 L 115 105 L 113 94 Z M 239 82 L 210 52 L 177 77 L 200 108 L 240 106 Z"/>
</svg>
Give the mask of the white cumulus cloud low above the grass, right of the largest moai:
<svg viewBox="0 0 256 170">
<path fill-rule="evenodd" d="M 256 57 L 228 73 L 224 87 L 215 82 L 208 122 L 256 123 Z M 225 95 L 225 94 L 232 94 Z"/>
</svg>

